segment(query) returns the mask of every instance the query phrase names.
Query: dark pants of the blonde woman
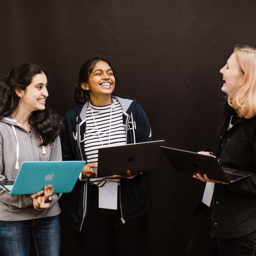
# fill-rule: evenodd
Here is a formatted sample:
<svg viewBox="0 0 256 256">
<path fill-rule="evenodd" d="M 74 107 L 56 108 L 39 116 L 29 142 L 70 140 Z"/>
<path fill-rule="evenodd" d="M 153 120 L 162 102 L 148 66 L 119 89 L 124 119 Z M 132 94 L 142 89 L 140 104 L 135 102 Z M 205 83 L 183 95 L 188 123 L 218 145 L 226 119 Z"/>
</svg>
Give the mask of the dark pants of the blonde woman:
<svg viewBox="0 0 256 256">
<path fill-rule="evenodd" d="M 211 215 L 205 210 L 191 238 L 186 256 L 255 256 L 256 231 L 239 238 L 212 238 Z"/>
</svg>

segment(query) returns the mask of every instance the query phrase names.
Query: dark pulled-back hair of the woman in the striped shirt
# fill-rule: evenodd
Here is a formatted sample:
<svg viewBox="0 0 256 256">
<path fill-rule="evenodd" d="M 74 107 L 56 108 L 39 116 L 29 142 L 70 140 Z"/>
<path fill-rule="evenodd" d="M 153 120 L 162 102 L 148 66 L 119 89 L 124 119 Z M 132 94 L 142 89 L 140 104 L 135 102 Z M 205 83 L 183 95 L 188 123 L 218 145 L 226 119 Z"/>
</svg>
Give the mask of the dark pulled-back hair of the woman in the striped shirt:
<svg viewBox="0 0 256 256">
<path fill-rule="evenodd" d="M 81 87 L 81 83 L 88 83 L 89 81 L 89 75 L 93 71 L 96 63 L 98 61 L 104 61 L 106 62 L 111 69 L 113 70 L 113 67 L 111 66 L 110 61 L 104 60 L 100 57 L 95 57 L 93 59 L 87 60 L 81 67 L 78 75 L 78 80 L 76 87 L 74 89 L 74 101 L 78 104 L 84 104 L 86 101 L 89 101 L 89 90 L 84 90 Z"/>
</svg>

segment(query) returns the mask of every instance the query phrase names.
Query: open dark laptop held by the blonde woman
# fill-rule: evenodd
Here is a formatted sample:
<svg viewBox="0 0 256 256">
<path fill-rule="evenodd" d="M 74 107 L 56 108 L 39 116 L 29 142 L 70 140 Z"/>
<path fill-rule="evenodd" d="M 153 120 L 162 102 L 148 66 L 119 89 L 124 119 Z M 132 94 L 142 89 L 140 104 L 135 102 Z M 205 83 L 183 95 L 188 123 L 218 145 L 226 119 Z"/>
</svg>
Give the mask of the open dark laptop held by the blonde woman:
<svg viewBox="0 0 256 256">
<path fill-rule="evenodd" d="M 195 173 L 206 174 L 209 179 L 227 183 L 232 183 L 254 174 L 252 172 L 221 167 L 216 157 L 162 146 L 161 150 L 179 173 L 190 175 Z"/>
</svg>

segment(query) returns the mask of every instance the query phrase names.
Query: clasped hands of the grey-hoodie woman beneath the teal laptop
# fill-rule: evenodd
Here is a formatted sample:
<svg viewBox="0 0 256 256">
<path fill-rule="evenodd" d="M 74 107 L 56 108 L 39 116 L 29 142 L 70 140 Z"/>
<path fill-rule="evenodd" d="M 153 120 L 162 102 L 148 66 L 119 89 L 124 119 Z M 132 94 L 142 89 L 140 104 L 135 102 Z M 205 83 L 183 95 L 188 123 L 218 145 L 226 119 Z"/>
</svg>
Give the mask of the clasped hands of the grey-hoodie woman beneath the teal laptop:
<svg viewBox="0 0 256 256">
<path fill-rule="evenodd" d="M 36 194 L 30 195 L 33 200 L 33 206 L 35 209 L 46 209 L 50 206 L 52 201 L 52 195 L 54 194 L 53 185 L 47 185 L 44 190 L 38 191 Z"/>
</svg>

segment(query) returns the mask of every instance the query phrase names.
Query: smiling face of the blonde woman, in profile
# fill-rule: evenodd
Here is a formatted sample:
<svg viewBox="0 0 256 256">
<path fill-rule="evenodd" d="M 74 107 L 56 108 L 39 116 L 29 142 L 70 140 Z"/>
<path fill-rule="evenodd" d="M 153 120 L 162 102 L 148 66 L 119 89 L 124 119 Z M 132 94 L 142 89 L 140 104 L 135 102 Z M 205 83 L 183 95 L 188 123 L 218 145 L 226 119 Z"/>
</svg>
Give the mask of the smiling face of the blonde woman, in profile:
<svg viewBox="0 0 256 256">
<path fill-rule="evenodd" d="M 236 60 L 236 55 L 233 53 L 226 62 L 226 65 L 220 69 L 220 74 L 223 75 L 223 86 L 221 90 L 229 95 L 232 90 L 241 85 L 244 75 L 240 71 L 240 67 Z"/>
</svg>

